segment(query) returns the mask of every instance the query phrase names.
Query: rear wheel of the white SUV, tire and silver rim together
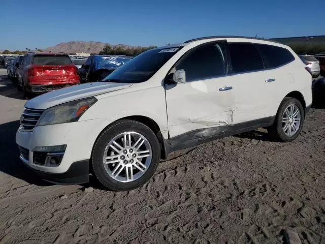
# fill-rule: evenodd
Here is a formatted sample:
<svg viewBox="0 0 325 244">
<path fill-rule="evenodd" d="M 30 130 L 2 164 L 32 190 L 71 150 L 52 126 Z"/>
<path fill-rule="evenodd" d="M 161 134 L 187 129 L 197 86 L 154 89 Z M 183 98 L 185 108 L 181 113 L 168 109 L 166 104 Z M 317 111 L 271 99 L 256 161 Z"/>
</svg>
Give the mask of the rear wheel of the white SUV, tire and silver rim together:
<svg viewBox="0 0 325 244">
<path fill-rule="evenodd" d="M 303 127 L 305 113 L 296 98 L 284 98 L 275 117 L 274 124 L 268 128 L 269 135 L 276 141 L 295 140 Z"/>
</svg>

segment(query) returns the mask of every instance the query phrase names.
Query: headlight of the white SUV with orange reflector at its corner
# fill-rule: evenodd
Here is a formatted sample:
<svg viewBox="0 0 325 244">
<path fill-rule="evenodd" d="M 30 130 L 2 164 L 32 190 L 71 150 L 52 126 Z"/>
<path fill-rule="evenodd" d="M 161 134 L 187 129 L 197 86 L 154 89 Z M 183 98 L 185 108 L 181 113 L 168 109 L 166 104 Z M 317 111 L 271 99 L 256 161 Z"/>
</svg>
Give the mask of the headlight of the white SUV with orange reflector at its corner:
<svg viewBox="0 0 325 244">
<path fill-rule="evenodd" d="M 86 98 L 63 103 L 46 109 L 36 126 L 46 126 L 78 121 L 81 115 L 95 102 L 95 98 Z"/>
</svg>

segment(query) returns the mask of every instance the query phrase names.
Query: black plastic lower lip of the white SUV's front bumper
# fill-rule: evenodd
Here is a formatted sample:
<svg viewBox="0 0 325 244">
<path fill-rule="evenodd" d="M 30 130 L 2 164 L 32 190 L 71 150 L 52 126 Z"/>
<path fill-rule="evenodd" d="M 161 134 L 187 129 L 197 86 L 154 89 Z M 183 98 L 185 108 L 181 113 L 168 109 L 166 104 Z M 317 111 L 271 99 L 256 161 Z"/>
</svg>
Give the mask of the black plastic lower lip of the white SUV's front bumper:
<svg viewBox="0 0 325 244">
<path fill-rule="evenodd" d="M 24 162 L 24 158 L 20 156 Z M 64 173 L 48 173 L 31 168 L 27 163 L 25 165 L 37 174 L 41 179 L 58 185 L 78 185 L 89 182 L 89 160 L 74 162 Z"/>
</svg>

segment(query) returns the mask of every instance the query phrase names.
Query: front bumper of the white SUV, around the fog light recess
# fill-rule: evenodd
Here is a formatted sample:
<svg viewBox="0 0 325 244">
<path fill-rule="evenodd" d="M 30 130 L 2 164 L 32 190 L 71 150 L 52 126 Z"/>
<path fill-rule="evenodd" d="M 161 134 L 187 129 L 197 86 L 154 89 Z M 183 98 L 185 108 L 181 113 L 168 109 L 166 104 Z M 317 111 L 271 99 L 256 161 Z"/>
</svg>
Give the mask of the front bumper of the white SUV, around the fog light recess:
<svg viewBox="0 0 325 244">
<path fill-rule="evenodd" d="M 25 154 L 21 157 L 23 163 L 32 168 L 38 174 L 51 182 L 60 184 L 80 184 L 84 183 L 88 177 L 89 159 L 93 144 L 100 133 L 96 128 L 101 128 L 105 119 L 92 119 L 77 121 L 74 123 L 37 126 L 31 132 L 18 130 L 16 133 L 16 143 L 25 148 Z M 56 167 L 44 166 L 33 162 L 35 147 L 67 145 L 60 164 Z M 78 163 L 76 163 L 78 162 Z M 83 163 L 80 163 L 83 162 Z M 88 163 L 85 163 L 88 162 Z M 84 164 L 83 166 L 73 166 Z M 77 170 L 82 168 L 86 170 Z M 82 173 L 79 173 L 82 172 Z M 54 177 L 54 179 L 53 179 Z M 57 181 L 56 179 L 67 180 Z M 72 178 L 75 178 L 72 180 Z M 80 180 L 80 182 L 78 182 Z M 82 181 L 82 182 L 81 182 Z"/>
</svg>

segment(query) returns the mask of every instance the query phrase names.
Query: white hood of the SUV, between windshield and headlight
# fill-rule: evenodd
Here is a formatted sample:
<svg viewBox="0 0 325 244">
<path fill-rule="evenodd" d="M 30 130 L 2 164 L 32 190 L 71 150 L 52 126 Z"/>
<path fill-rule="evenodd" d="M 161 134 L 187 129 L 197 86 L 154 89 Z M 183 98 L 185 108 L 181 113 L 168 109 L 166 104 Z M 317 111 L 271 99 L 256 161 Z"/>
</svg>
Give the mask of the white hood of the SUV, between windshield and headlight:
<svg viewBox="0 0 325 244">
<path fill-rule="evenodd" d="M 26 108 L 47 109 L 62 103 L 110 93 L 132 86 L 129 83 L 94 82 L 74 85 L 67 88 L 54 90 L 41 96 L 28 100 Z"/>
</svg>

